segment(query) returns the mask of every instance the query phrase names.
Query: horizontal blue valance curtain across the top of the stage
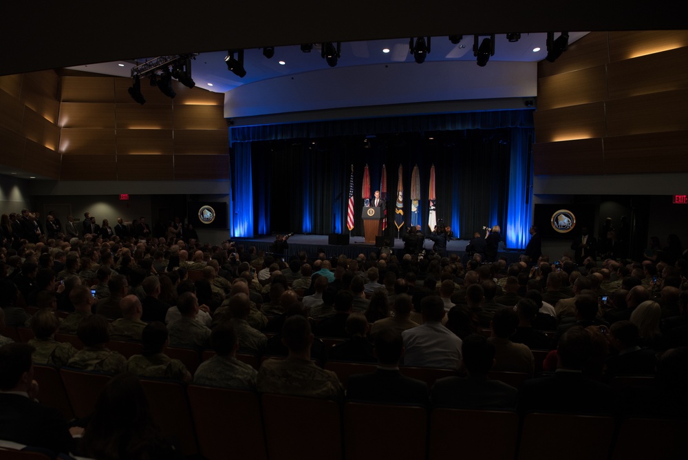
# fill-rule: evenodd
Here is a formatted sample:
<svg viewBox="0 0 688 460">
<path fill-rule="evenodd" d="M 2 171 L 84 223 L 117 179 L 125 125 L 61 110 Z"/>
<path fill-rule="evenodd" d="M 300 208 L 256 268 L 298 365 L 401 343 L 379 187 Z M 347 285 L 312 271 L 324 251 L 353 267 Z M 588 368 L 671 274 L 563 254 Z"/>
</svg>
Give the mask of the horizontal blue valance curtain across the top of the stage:
<svg viewBox="0 0 688 460">
<path fill-rule="evenodd" d="M 533 109 L 237 126 L 230 127 L 229 135 L 230 142 L 253 142 L 257 140 L 365 136 L 371 133 L 389 134 L 510 127 L 533 127 Z"/>
</svg>

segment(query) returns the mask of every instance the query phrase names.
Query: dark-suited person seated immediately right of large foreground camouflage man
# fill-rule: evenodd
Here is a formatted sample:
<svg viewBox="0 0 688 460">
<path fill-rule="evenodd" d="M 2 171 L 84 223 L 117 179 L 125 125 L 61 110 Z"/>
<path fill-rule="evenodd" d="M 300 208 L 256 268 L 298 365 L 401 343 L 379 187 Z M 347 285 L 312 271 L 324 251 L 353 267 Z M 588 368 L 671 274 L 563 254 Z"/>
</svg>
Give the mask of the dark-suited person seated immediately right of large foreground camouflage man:
<svg viewBox="0 0 688 460">
<path fill-rule="evenodd" d="M 406 377 L 399 370 L 399 359 L 404 354 L 399 331 L 385 328 L 378 332 L 375 335 L 374 353 L 378 359 L 377 370 L 349 377 L 347 399 L 388 404 L 427 404 L 427 384 Z"/>
</svg>

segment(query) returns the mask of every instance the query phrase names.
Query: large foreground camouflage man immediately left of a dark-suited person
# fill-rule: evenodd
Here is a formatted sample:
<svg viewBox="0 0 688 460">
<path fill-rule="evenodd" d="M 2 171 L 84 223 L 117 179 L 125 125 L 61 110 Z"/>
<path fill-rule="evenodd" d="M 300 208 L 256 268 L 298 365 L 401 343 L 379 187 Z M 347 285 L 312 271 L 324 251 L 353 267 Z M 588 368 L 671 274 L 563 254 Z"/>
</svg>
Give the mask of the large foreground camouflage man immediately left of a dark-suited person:
<svg viewBox="0 0 688 460">
<path fill-rule="evenodd" d="M 343 389 L 337 375 L 310 360 L 313 334 L 301 315 L 287 318 L 282 339 L 289 348 L 287 359 L 268 359 L 261 365 L 257 389 L 261 393 L 341 399 Z"/>
</svg>

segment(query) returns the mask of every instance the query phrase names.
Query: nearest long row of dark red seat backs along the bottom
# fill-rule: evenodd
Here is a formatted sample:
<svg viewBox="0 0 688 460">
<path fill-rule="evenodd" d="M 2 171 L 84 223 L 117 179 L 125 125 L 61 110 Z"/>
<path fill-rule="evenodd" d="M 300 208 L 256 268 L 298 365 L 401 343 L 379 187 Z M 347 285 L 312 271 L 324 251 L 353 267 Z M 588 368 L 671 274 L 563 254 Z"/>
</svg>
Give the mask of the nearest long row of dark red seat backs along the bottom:
<svg viewBox="0 0 688 460">
<path fill-rule="evenodd" d="M 35 366 L 76 417 L 111 378 Z M 143 379 L 153 418 L 183 454 L 208 459 L 678 459 L 688 421 L 528 414 L 259 395 Z"/>
</svg>

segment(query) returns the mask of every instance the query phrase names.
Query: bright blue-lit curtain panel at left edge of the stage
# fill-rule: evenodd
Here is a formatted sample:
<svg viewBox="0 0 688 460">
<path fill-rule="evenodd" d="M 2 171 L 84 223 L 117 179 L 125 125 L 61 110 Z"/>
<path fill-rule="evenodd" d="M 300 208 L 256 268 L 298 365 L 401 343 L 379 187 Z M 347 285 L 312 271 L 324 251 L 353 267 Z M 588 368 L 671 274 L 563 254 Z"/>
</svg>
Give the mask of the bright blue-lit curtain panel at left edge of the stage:
<svg viewBox="0 0 688 460">
<path fill-rule="evenodd" d="M 251 174 L 251 143 L 234 145 L 233 201 L 230 212 L 233 216 L 232 233 L 235 237 L 253 236 L 253 182 Z"/>
</svg>

